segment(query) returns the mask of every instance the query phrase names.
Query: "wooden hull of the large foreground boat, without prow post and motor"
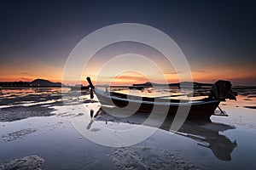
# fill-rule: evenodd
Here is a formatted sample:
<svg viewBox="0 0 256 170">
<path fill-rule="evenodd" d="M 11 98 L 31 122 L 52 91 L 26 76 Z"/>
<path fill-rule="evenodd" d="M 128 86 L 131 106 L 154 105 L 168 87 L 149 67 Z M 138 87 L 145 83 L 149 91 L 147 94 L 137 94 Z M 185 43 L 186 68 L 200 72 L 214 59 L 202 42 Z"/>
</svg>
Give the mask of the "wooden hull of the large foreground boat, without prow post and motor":
<svg viewBox="0 0 256 170">
<path fill-rule="evenodd" d="M 107 94 L 102 90 L 95 89 L 95 93 L 97 98 L 99 99 L 102 105 L 116 105 L 118 107 L 125 107 L 127 105 L 140 105 L 137 109 L 138 112 L 148 112 L 150 113 L 153 110 L 154 105 L 157 105 L 158 112 L 161 111 L 162 107 L 169 107 L 168 109 L 168 116 L 175 116 L 177 113 L 178 108 L 182 109 L 189 109 L 189 118 L 196 118 L 196 119 L 207 119 L 209 120 L 210 117 L 214 114 L 214 111 L 219 105 L 219 100 L 212 100 L 212 99 L 201 99 L 196 100 L 194 102 L 186 102 L 183 100 L 170 100 L 170 99 L 158 99 L 157 102 L 154 101 L 154 98 L 141 98 L 141 100 L 132 99 L 131 96 L 125 94 L 118 94 L 118 93 L 111 93 Z M 126 99 L 125 99 L 126 96 Z M 162 107 L 161 107 L 162 106 Z"/>
</svg>

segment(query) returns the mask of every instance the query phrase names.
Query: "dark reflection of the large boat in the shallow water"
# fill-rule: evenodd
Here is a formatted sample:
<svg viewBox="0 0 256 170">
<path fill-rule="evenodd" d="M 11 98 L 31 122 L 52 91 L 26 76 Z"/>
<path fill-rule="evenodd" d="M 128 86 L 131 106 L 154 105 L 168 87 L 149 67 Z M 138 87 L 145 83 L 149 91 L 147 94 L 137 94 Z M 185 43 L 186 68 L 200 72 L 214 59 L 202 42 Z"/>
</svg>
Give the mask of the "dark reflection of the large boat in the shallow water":
<svg viewBox="0 0 256 170">
<path fill-rule="evenodd" d="M 102 109 L 103 108 L 103 109 Z M 89 130 L 92 123 L 94 121 L 100 122 L 122 122 L 127 124 L 143 124 L 143 122 L 148 118 L 148 113 L 135 113 L 131 116 L 118 116 L 123 113 L 120 108 L 108 108 L 102 107 L 96 113 L 90 111 L 90 116 L 94 119 L 90 121 L 87 125 L 87 129 Z M 109 113 L 109 114 L 108 114 Z M 167 116 L 165 122 L 162 123 L 160 129 L 170 131 L 170 127 L 173 122 L 172 116 Z M 149 127 L 150 124 L 147 124 Z M 177 135 L 182 135 L 189 139 L 194 139 L 197 144 L 209 148 L 212 150 L 214 156 L 218 158 L 218 160 L 222 161 L 230 161 L 231 160 L 231 152 L 236 148 L 236 140 L 231 141 L 229 138 L 220 134 L 219 132 L 224 132 L 229 129 L 234 129 L 235 127 L 226 125 L 223 123 L 216 122 L 206 122 L 202 120 L 187 120 L 183 123 L 183 126 L 176 133 Z"/>
</svg>

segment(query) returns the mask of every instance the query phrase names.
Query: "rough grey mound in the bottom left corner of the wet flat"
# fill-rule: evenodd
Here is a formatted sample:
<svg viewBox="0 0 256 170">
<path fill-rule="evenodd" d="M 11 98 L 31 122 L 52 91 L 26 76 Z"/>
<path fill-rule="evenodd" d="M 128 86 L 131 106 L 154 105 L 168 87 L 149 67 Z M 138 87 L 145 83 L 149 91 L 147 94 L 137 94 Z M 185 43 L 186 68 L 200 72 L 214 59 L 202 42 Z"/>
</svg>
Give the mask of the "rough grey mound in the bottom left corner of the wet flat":
<svg viewBox="0 0 256 170">
<path fill-rule="evenodd" d="M 39 156 L 25 156 L 8 163 L 0 164 L 1 170 L 19 169 L 19 170 L 41 170 L 44 159 Z"/>
</svg>

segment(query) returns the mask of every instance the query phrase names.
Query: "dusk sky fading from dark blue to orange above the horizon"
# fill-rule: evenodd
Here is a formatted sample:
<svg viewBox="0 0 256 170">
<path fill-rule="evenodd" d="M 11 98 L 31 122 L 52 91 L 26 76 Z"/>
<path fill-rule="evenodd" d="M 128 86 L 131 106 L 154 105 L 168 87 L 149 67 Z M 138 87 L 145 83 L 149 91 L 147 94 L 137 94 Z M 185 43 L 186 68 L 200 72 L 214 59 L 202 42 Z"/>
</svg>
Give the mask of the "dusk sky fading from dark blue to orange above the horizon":
<svg viewBox="0 0 256 170">
<path fill-rule="evenodd" d="M 68 55 L 85 36 L 104 26 L 139 23 L 172 37 L 188 60 L 195 82 L 225 79 L 235 85 L 256 86 L 255 8 L 250 0 L 1 0 L 0 81 L 44 78 L 61 82 Z M 143 54 L 165 67 L 159 52 L 131 42 L 103 48 L 89 67 L 100 67 L 104 56 L 131 53 Z M 141 65 L 154 74 L 148 64 L 142 61 Z M 169 82 L 177 82 L 171 67 L 163 68 L 164 74 Z M 85 69 L 86 75 L 96 78 L 97 72 Z M 147 81 L 148 77 L 128 71 L 115 79 L 122 84 Z"/>
</svg>

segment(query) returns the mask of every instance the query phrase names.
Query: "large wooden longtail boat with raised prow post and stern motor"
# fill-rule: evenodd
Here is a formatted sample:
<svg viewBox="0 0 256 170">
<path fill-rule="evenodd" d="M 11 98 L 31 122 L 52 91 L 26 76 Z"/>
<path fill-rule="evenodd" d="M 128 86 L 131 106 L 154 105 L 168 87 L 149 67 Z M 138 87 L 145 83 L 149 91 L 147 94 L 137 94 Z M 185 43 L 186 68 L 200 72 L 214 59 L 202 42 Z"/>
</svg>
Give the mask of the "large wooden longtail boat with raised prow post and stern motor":
<svg viewBox="0 0 256 170">
<path fill-rule="evenodd" d="M 177 113 L 177 109 L 179 107 L 188 108 L 189 109 L 189 118 L 198 118 L 198 119 L 207 119 L 210 120 L 210 117 L 214 114 L 214 111 L 217 109 L 221 100 L 229 98 L 231 99 L 230 94 L 233 93 L 230 90 L 230 87 L 224 89 L 224 92 L 218 90 L 219 94 L 226 94 L 222 96 L 224 98 L 218 99 L 218 95 L 211 96 L 205 99 L 199 100 L 181 100 L 181 99 L 163 99 L 163 98 L 150 98 L 150 97 L 140 97 L 128 94 L 120 94 L 116 92 L 105 92 L 101 89 L 95 88 L 90 81 L 90 77 L 87 77 L 87 81 L 90 84 L 90 97 L 93 98 L 93 91 L 95 92 L 97 98 L 99 99 L 102 105 L 115 105 L 118 107 L 123 107 L 127 105 L 139 105 L 137 109 L 138 112 L 148 112 L 150 113 L 153 111 L 154 106 L 159 109 L 161 112 L 161 108 L 167 107 L 168 115 L 175 116 Z M 224 81 L 227 82 L 227 81 Z M 218 85 L 217 83 L 216 85 Z M 218 89 L 221 89 L 217 87 Z M 212 94 L 213 95 L 213 94 Z M 235 97 L 235 94 L 232 96 Z M 219 108 L 219 107 L 218 107 Z M 220 108 L 219 108 L 220 109 Z M 220 110 L 221 111 L 221 110 Z M 224 111 L 221 111 L 219 116 L 227 116 Z"/>
</svg>

